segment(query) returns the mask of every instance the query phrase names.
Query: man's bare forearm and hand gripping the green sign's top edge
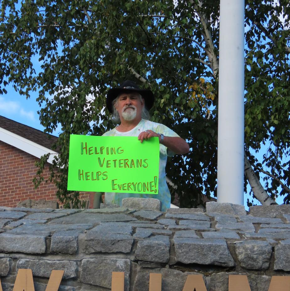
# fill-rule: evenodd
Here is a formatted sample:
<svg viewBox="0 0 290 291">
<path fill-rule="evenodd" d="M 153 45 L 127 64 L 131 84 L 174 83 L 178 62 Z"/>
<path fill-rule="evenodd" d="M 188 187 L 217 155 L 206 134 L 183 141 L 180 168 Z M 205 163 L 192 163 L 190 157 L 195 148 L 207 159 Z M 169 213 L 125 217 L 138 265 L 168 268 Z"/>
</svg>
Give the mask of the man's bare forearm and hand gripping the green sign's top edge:
<svg viewBox="0 0 290 291">
<path fill-rule="evenodd" d="M 163 141 L 161 141 L 160 135 L 153 132 L 153 130 L 141 132 L 138 136 L 138 140 L 142 143 L 144 139 L 148 140 L 150 137 L 159 137 L 159 142 L 175 154 L 187 154 L 189 152 L 189 145 L 183 138 L 164 136 Z"/>
</svg>

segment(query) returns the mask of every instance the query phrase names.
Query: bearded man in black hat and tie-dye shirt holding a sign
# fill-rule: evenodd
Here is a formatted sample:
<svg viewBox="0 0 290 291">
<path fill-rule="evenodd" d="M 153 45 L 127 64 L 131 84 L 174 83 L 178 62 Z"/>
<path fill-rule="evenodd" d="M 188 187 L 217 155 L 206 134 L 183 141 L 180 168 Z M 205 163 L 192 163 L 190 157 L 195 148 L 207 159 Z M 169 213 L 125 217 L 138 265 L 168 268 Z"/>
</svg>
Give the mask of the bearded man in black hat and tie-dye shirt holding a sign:
<svg viewBox="0 0 290 291">
<path fill-rule="evenodd" d="M 189 146 L 184 139 L 163 124 L 149 121 L 148 110 L 153 106 L 154 96 L 151 90 L 140 89 L 132 81 L 124 81 L 120 87 L 108 91 L 106 105 L 120 124 L 105 132 L 104 136 L 136 136 L 142 143 L 150 137 L 158 137 L 160 143 L 158 194 L 105 193 L 105 203 L 122 205 L 127 197 L 157 198 L 161 201 L 161 210 L 170 208 L 170 192 L 165 180 L 167 156 L 186 154 Z"/>
</svg>

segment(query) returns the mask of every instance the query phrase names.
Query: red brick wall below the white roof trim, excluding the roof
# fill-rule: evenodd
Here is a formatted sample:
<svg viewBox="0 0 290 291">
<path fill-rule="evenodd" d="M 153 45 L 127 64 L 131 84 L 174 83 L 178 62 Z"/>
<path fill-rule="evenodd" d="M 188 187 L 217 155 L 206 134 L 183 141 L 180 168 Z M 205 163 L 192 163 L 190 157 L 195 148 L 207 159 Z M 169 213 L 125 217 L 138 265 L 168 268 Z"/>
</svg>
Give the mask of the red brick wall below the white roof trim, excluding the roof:
<svg viewBox="0 0 290 291">
<path fill-rule="evenodd" d="M 0 206 L 15 207 L 19 201 L 26 199 L 56 200 L 56 186 L 42 182 L 35 189 L 32 179 L 37 168 L 38 158 L 0 141 Z M 43 176 L 49 177 L 47 165 Z M 89 200 L 90 192 L 80 193 L 81 199 Z"/>
</svg>

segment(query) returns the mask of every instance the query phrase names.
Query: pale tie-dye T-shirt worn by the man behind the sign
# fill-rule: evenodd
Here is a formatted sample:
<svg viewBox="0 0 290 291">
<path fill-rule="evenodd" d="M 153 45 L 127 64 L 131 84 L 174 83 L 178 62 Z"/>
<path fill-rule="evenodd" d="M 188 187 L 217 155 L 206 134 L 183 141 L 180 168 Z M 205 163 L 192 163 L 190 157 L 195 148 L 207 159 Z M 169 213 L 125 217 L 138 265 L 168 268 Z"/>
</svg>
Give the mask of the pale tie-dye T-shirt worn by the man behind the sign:
<svg viewBox="0 0 290 291">
<path fill-rule="evenodd" d="M 174 131 L 166 127 L 163 124 L 142 119 L 136 127 L 127 132 L 119 132 L 116 128 L 105 132 L 103 136 L 136 136 L 145 131 L 152 130 L 156 133 L 163 133 L 164 136 L 169 137 L 179 137 Z M 146 142 L 146 141 L 145 141 Z M 161 210 L 166 211 L 167 208 L 170 208 L 171 196 L 169 189 L 165 180 L 165 166 L 167 156 L 173 156 L 174 153 L 166 148 L 163 144 L 160 144 L 160 154 L 159 154 L 159 183 L 158 183 L 158 194 L 140 194 L 140 193 L 105 193 L 105 203 L 109 204 L 118 204 L 122 206 L 122 199 L 128 197 L 135 198 L 157 198 L 161 201 Z"/>
</svg>

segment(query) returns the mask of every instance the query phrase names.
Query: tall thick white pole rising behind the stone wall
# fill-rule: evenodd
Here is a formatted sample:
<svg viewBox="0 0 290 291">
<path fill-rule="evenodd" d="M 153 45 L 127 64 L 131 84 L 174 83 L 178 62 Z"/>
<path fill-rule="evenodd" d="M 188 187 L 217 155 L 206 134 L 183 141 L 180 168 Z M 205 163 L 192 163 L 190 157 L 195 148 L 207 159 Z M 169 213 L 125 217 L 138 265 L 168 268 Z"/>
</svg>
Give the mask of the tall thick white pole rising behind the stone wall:
<svg viewBox="0 0 290 291">
<path fill-rule="evenodd" d="M 244 204 L 244 0 L 220 0 L 217 202 Z"/>
</svg>

